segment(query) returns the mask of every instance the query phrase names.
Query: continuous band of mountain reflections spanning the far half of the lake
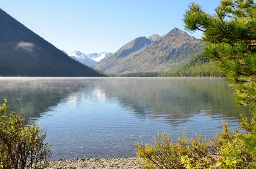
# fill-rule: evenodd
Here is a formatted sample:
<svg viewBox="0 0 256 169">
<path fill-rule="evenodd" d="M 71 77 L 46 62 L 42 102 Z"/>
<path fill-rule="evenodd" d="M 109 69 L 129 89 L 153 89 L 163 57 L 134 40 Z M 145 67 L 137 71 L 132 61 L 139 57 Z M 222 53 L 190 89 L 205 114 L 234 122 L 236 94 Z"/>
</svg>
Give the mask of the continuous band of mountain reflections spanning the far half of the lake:
<svg viewBox="0 0 256 169">
<path fill-rule="evenodd" d="M 38 119 L 63 99 L 79 106 L 85 98 L 102 103 L 116 99 L 138 118 L 186 122 L 198 112 L 212 118 L 250 117 L 248 109 L 236 107 L 233 90 L 215 78 L 3 78 L 0 97 L 9 103 L 21 102 L 26 117 Z M 62 101 L 61 101 L 62 100 Z M 1 101 L 2 103 L 2 101 Z"/>
</svg>

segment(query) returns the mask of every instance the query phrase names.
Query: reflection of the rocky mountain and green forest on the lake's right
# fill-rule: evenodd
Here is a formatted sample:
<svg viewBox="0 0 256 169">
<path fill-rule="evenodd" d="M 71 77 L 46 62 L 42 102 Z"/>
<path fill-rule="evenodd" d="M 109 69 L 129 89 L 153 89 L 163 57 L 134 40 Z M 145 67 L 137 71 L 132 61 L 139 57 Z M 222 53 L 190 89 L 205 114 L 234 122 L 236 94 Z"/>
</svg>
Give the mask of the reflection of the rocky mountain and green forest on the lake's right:
<svg viewBox="0 0 256 169">
<path fill-rule="evenodd" d="M 240 119 L 240 113 L 250 117 L 247 108 L 233 103 L 234 90 L 223 79 L 126 78 L 111 80 L 104 89 L 107 97 L 116 97 L 131 115 L 169 120 L 174 125 L 198 113 L 227 120 Z"/>
</svg>

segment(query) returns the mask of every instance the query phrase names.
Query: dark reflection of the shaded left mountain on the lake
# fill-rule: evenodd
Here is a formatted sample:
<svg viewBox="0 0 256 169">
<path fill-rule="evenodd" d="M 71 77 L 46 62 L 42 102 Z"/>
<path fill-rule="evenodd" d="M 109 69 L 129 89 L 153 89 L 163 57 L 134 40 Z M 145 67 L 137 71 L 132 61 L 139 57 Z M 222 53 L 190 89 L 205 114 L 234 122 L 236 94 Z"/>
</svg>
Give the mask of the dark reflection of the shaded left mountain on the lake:
<svg viewBox="0 0 256 169">
<path fill-rule="evenodd" d="M 0 103 L 4 97 L 14 106 L 20 102 L 22 114 L 37 120 L 79 87 L 86 87 L 86 83 L 76 83 L 72 78 L 1 78 Z"/>
</svg>

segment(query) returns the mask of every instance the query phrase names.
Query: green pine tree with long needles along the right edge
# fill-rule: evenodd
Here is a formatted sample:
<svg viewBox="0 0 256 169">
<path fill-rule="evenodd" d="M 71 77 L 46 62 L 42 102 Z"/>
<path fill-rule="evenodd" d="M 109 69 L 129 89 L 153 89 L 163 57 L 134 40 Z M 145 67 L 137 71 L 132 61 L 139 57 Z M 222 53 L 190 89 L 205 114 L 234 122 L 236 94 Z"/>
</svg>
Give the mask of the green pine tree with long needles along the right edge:
<svg viewBox="0 0 256 169">
<path fill-rule="evenodd" d="M 204 57 L 218 60 L 227 82 L 236 87 L 236 103 L 250 106 L 256 116 L 256 4 L 253 0 L 221 0 L 215 12 L 210 14 L 191 3 L 184 14 L 185 29 L 204 32 Z M 256 126 L 242 139 L 255 159 Z M 250 167 L 255 169 L 256 162 Z"/>
</svg>

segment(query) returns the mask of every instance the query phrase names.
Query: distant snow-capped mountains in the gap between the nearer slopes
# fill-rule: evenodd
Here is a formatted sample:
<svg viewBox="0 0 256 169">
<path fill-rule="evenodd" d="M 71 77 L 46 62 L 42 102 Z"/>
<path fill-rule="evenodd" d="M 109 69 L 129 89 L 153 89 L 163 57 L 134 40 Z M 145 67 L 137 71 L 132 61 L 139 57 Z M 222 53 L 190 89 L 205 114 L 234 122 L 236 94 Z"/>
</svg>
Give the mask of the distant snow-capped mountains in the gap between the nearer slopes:
<svg viewBox="0 0 256 169">
<path fill-rule="evenodd" d="M 87 66 L 96 65 L 100 60 L 102 60 L 103 58 L 105 58 L 108 55 L 112 54 L 110 52 L 102 52 L 100 54 L 98 54 L 98 53 L 83 54 L 83 53 L 81 53 L 79 51 L 74 51 L 74 52 L 68 54 L 64 50 L 61 50 L 61 51 L 64 52 L 65 54 L 67 54 L 72 59 L 77 60 L 80 63 L 83 63 L 84 65 L 87 65 Z"/>
</svg>

